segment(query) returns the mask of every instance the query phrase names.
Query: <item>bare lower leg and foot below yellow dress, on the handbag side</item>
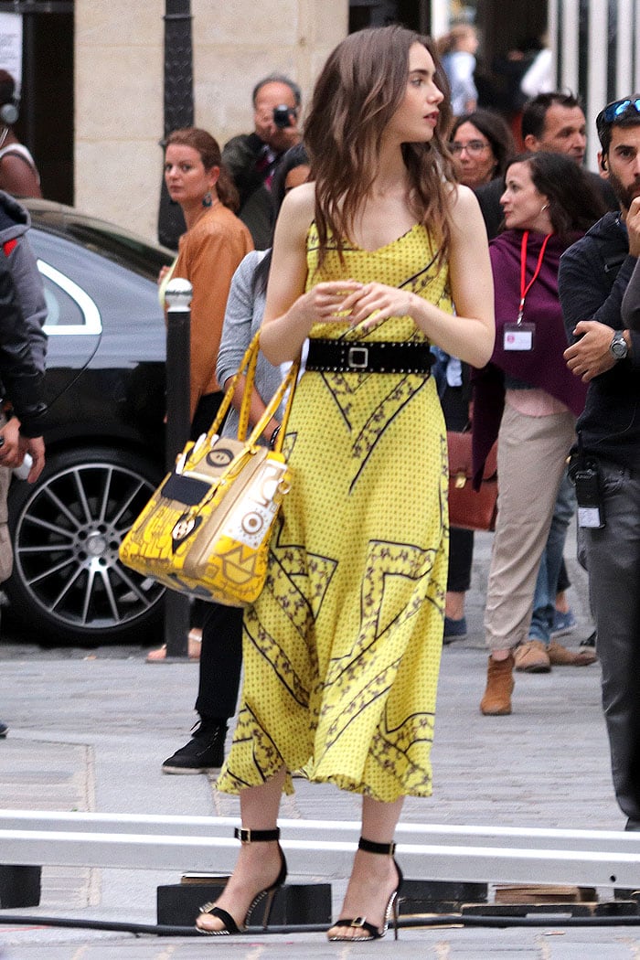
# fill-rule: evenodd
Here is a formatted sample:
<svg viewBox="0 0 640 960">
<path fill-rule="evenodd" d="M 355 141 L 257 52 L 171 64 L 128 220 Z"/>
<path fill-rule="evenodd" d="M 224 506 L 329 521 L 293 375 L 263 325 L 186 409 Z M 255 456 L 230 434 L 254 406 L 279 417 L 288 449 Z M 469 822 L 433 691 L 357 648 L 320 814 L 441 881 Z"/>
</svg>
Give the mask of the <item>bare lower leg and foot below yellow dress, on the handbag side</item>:
<svg viewBox="0 0 640 960">
<path fill-rule="evenodd" d="M 240 813 L 243 828 L 275 828 L 285 774 L 286 770 L 282 767 L 271 780 L 242 791 Z M 261 890 L 273 884 L 281 866 L 281 853 L 276 840 L 243 843 L 234 871 L 215 906 L 229 913 L 237 926 L 242 926 L 249 906 Z M 196 925 L 207 931 L 225 928 L 225 922 L 210 913 L 201 913 Z"/>
</svg>

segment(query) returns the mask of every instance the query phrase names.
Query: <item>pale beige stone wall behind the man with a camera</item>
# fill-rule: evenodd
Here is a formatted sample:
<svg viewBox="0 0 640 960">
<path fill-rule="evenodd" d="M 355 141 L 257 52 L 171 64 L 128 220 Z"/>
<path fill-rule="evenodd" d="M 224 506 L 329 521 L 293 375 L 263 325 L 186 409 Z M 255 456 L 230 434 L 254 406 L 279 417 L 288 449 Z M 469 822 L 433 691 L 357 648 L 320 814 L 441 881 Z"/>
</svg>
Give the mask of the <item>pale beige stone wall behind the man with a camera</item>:
<svg viewBox="0 0 640 960">
<path fill-rule="evenodd" d="M 164 0 L 76 0 L 75 204 L 156 237 Z M 346 35 L 348 0 L 191 0 L 195 122 L 221 146 L 252 129 L 251 90 L 277 70 L 308 96 Z"/>
</svg>

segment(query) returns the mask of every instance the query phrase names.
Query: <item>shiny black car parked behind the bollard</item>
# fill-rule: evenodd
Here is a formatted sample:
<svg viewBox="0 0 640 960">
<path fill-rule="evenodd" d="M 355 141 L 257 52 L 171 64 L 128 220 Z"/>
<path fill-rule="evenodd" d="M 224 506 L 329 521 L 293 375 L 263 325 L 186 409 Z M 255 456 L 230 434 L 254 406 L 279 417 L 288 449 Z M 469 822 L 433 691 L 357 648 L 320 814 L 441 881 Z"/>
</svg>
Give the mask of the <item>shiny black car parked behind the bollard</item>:
<svg viewBox="0 0 640 960">
<path fill-rule="evenodd" d="M 3 588 L 34 636 L 127 641 L 157 627 L 163 590 L 118 546 L 164 466 L 166 334 L 157 296 L 174 254 L 122 228 L 26 201 L 49 308 L 46 466 L 14 480 Z"/>
</svg>

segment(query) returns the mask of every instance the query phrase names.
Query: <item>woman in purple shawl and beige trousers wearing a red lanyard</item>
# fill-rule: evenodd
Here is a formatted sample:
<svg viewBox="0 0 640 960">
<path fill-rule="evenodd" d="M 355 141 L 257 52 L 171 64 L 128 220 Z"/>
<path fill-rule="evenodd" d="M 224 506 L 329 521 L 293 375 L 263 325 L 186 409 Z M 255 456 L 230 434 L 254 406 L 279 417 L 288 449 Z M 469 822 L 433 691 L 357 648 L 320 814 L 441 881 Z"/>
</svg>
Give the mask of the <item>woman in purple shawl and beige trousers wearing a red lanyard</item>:
<svg viewBox="0 0 640 960">
<path fill-rule="evenodd" d="M 559 154 L 511 160 L 491 241 L 496 340 L 475 374 L 474 469 L 498 438 L 498 519 L 488 578 L 483 713 L 511 712 L 513 654 L 529 640 L 533 592 L 586 388 L 567 370 L 559 258 L 604 212 L 581 168 Z M 557 570 L 561 551 L 557 557 Z M 554 571 L 549 571 L 550 580 Z"/>
</svg>

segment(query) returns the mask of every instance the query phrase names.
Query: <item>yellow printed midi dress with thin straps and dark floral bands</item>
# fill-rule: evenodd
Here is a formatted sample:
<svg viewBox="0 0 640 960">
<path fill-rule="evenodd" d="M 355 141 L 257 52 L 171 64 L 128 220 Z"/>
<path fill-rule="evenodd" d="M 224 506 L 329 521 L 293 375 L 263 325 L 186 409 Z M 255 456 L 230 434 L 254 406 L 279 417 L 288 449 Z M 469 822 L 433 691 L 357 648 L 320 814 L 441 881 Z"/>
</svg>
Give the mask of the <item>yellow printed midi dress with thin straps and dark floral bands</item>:
<svg viewBox="0 0 640 960">
<path fill-rule="evenodd" d="M 307 237 L 308 281 L 352 277 L 411 290 L 451 312 L 446 263 L 416 224 L 368 252 Z M 425 341 L 409 317 L 366 333 Z M 433 378 L 304 372 L 287 428 L 293 472 L 267 584 L 245 613 L 245 681 L 218 788 L 235 793 L 284 764 L 376 800 L 431 794 L 430 753 L 447 576 L 447 457 Z M 288 777 L 285 790 L 292 790 Z"/>
</svg>

